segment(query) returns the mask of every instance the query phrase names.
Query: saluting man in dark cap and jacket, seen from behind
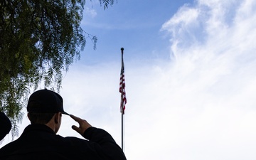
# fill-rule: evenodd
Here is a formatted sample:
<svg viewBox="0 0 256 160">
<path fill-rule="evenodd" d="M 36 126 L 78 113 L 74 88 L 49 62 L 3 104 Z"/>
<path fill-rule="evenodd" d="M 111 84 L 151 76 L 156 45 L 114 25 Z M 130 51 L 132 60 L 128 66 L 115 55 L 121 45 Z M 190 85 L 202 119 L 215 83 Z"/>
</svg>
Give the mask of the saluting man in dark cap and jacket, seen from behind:
<svg viewBox="0 0 256 160">
<path fill-rule="evenodd" d="M 0 159 L 111 159 L 125 160 L 122 149 L 103 129 L 70 115 L 79 127 L 72 128 L 85 139 L 56 135 L 60 128 L 63 98 L 50 90 L 38 90 L 28 99 L 28 125 L 16 141 L 0 149 Z"/>
</svg>

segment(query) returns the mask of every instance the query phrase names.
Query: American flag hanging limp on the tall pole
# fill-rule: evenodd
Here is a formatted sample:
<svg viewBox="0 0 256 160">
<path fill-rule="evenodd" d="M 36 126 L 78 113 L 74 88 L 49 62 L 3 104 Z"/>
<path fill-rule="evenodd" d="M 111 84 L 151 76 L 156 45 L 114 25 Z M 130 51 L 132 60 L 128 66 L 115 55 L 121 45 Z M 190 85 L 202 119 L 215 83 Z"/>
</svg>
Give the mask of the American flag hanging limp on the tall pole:
<svg viewBox="0 0 256 160">
<path fill-rule="evenodd" d="M 121 68 L 120 82 L 119 82 L 119 92 L 121 93 L 120 112 L 122 112 L 122 114 L 124 114 L 125 104 L 127 103 L 127 98 L 126 98 L 126 94 L 125 94 L 123 55 L 122 55 L 122 68 Z"/>
</svg>

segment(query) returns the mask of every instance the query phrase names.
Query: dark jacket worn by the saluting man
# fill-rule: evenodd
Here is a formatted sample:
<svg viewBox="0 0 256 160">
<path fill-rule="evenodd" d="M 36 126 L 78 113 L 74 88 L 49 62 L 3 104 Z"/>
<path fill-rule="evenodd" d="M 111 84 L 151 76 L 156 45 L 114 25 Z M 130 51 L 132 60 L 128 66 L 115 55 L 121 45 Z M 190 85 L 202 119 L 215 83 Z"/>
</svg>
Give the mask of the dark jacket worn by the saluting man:
<svg viewBox="0 0 256 160">
<path fill-rule="evenodd" d="M 89 141 L 61 137 L 46 125 L 31 124 L 21 137 L 0 149 L 0 159 L 126 159 L 122 149 L 105 130 L 90 127 L 83 137 Z"/>
</svg>

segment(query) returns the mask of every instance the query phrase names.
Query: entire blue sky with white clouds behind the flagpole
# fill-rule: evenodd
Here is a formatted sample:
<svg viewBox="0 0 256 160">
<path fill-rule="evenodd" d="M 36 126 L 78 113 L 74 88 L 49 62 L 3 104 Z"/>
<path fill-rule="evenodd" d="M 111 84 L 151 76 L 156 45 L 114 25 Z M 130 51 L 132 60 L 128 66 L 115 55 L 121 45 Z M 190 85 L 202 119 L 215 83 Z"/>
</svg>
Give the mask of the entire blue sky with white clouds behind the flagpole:
<svg viewBox="0 0 256 160">
<path fill-rule="evenodd" d="M 97 49 L 87 39 L 65 73 L 65 111 L 121 146 L 123 47 L 127 159 L 255 160 L 255 21 L 255 0 L 87 1 L 81 26 Z M 64 115 L 58 134 L 80 137 L 73 124 Z"/>
</svg>

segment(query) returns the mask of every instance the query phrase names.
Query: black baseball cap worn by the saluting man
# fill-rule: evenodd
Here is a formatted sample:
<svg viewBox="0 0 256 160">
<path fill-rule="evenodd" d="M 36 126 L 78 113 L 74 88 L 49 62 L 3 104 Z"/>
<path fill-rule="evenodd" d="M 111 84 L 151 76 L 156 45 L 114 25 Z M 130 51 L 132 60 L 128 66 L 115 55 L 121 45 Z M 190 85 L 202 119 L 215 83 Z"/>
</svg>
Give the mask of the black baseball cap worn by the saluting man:
<svg viewBox="0 0 256 160">
<path fill-rule="evenodd" d="M 57 113 L 69 115 L 63 110 L 63 98 L 52 90 L 38 90 L 28 99 L 27 111 L 32 113 Z"/>
</svg>

